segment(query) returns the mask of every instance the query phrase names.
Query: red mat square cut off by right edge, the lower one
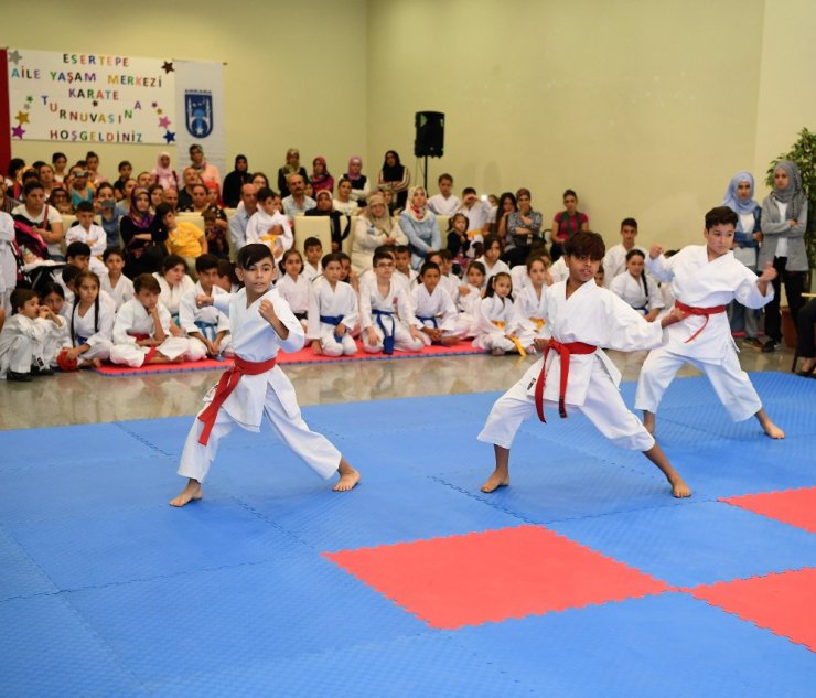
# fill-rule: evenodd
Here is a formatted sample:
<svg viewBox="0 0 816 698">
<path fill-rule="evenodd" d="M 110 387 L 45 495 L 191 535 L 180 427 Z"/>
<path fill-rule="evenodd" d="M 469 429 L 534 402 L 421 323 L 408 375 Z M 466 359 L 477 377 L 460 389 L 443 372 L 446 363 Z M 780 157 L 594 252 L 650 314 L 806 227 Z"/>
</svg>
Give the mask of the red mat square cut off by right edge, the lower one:
<svg viewBox="0 0 816 698">
<path fill-rule="evenodd" d="M 816 568 L 696 587 L 690 593 L 816 652 Z"/>
</svg>

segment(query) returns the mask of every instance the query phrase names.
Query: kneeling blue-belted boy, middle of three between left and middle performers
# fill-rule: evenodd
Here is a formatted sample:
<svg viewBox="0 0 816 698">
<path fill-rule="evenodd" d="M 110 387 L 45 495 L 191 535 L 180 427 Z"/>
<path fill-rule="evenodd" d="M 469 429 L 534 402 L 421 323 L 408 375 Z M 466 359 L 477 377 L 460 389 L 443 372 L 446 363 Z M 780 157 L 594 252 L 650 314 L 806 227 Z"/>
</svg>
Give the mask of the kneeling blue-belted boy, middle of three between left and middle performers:
<svg viewBox="0 0 816 698">
<path fill-rule="evenodd" d="M 373 264 L 374 273 L 359 284 L 363 348 L 369 354 L 421 351 L 425 342 L 415 326 L 410 296 L 393 278 L 394 256 L 377 248 Z"/>
</svg>

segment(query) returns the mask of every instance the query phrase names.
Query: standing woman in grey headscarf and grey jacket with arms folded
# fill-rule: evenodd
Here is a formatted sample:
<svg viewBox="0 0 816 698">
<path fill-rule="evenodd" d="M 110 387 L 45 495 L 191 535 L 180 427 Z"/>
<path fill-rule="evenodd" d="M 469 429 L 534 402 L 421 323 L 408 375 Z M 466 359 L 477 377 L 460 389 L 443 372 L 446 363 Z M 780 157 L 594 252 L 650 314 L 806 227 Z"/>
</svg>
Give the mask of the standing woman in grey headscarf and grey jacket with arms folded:
<svg viewBox="0 0 816 698">
<path fill-rule="evenodd" d="M 773 262 L 777 277 L 773 280 L 774 297 L 765 305 L 765 334 L 769 341 L 763 352 L 773 352 L 782 342 L 780 289 L 785 284 L 787 304 L 794 325 L 803 305 L 802 292 L 807 276 L 807 197 L 802 191 L 802 176 L 796 163 L 780 160 L 773 170 L 773 191 L 762 202 L 762 245 L 758 267 Z"/>
</svg>

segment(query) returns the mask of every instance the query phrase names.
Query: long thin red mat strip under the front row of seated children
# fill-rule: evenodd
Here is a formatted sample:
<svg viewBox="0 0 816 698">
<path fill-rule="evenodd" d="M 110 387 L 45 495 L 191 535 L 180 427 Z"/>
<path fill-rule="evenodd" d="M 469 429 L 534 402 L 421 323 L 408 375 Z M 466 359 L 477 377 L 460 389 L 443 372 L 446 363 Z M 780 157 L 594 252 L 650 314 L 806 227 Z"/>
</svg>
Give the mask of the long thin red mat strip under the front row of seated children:
<svg viewBox="0 0 816 698">
<path fill-rule="evenodd" d="M 468 356 L 472 354 L 484 354 L 484 350 L 474 348 L 470 342 L 460 342 L 453 346 L 426 346 L 421 352 L 394 352 L 394 354 L 366 354 L 362 348 L 353 356 L 324 356 L 312 352 L 311 347 L 303 347 L 299 352 L 278 354 L 278 363 L 286 364 L 310 364 L 310 363 L 333 363 L 350 361 L 389 361 L 393 358 L 426 358 L 428 356 Z M 112 364 L 103 364 L 100 368 L 94 368 L 96 373 L 103 376 L 136 376 L 149 373 L 183 373 L 189 371 L 226 371 L 233 365 L 232 359 L 223 362 L 206 361 L 184 362 L 182 364 L 150 364 L 139 368 L 129 366 L 115 366 Z"/>
</svg>

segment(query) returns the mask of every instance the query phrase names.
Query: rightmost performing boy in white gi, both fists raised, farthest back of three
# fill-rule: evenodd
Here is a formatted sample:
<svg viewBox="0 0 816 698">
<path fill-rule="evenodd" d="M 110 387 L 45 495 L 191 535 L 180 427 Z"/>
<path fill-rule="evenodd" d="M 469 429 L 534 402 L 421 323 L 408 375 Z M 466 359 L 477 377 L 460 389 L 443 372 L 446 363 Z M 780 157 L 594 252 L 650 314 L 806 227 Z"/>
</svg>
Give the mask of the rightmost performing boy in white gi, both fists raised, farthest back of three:
<svg viewBox="0 0 816 698">
<path fill-rule="evenodd" d="M 649 250 L 649 270 L 658 281 L 672 282 L 675 308 L 685 315 L 668 330 L 665 344 L 649 353 L 637 380 L 635 407 L 643 410 L 649 433 L 655 431 L 655 412 L 664 391 L 677 369 L 689 363 L 708 376 L 733 421 L 753 416 L 769 437 L 785 438 L 740 367 L 726 313 L 734 299 L 754 310 L 769 303 L 773 298 L 771 281 L 776 277 L 771 262 L 758 278 L 734 258 L 731 247 L 737 221 L 731 208 L 718 206 L 706 214 L 705 245 L 689 245 L 670 259 L 663 256 L 659 245 Z"/>
</svg>

